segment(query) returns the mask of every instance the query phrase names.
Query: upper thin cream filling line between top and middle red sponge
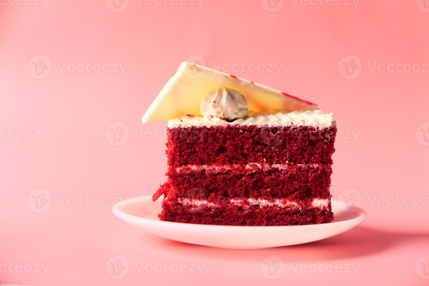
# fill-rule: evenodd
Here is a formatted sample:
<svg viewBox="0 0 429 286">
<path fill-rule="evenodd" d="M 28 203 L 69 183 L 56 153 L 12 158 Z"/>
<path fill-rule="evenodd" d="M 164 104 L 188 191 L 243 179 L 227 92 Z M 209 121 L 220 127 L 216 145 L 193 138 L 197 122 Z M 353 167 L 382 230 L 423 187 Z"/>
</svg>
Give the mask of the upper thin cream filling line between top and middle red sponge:
<svg viewBox="0 0 429 286">
<path fill-rule="evenodd" d="M 308 163 L 308 164 L 269 164 L 269 163 L 248 163 L 246 165 L 243 164 L 227 164 L 227 165 L 184 165 L 180 167 L 176 167 L 176 172 L 187 172 L 187 171 L 214 171 L 214 172 L 222 172 L 229 171 L 233 169 L 237 169 L 241 166 L 244 166 L 245 170 L 252 171 L 257 169 L 262 170 L 270 170 L 270 169 L 279 169 L 279 170 L 287 170 L 293 167 L 299 166 L 309 166 L 311 168 L 317 168 L 319 164 L 317 163 Z"/>
</svg>

